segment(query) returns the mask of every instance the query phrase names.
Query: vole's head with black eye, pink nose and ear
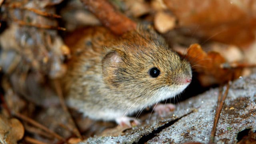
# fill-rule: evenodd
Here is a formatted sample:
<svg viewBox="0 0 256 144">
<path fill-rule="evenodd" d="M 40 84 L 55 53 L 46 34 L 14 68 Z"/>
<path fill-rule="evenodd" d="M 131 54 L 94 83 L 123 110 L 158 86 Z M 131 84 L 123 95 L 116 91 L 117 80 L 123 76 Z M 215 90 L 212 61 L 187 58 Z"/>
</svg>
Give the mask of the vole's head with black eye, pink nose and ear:
<svg viewBox="0 0 256 144">
<path fill-rule="evenodd" d="M 117 92 L 134 98 L 156 97 L 159 102 L 182 92 L 191 82 L 190 64 L 147 26 L 124 34 L 106 50 L 103 79 Z"/>
</svg>

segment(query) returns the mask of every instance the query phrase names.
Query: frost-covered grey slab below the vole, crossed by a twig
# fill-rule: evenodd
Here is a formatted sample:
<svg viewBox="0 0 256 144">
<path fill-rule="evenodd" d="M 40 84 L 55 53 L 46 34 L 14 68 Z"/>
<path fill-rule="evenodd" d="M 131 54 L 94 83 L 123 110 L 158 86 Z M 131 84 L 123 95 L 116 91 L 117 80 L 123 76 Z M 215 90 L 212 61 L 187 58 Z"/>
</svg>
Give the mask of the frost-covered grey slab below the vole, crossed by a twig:
<svg viewBox="0 0 256 144">
<path fill-rule="evenodd" d="M 234 144 L 238 133 L 256 133 L 256 74 L 231 84 L 216 127 L 215 143 Z M 164 119 L 150 118 L 148 124 L 133 128 L 123 136 L 89 138 L 83 143 L 182 143 L 210 141 L 217 106 L 218 88 L 180 102 Z"/>
</svg>

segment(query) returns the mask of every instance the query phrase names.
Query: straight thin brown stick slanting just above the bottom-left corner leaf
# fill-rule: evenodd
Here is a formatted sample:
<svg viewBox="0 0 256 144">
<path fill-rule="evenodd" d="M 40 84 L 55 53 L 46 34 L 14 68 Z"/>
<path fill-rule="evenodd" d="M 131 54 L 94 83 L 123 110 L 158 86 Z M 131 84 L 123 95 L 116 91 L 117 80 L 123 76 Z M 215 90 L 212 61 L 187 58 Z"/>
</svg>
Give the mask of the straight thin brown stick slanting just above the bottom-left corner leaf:
<svg viewBox="0 0 256 144">
<path fill-rule="evenodd" d="M 27 116 L 24 116 L 24 115 L 22 115 L 18 112 L 13 112 L 13 115 L 22 119 L 22 120 L 24 120 L 24 121 L 26 121 L 26 122 L 28 122 L 28 123 L 30 123 L 30 124 L 32 124 L 32 125 L 34 125 L 34 126 L 36 126 L 36 127 L 38 127 L 38 128 L 41 128 L 42 130 L 44 130 L 44 131 L 46 131 L 50 134 L 52 134 L 52 136 L 54 136 L 55 138 L 58 138 L 59 140 L 62 140 L 64 142 L 66 142 L 66 140 L 64 138 L 62 138 L 62 136 L 56 134 L 55 132 L 53 132 L 49 128 L 46 128 L 45 126 L 43 126 L 42 124 L 32 120 L 31 118 L 28 118 Z"/>
</svg>

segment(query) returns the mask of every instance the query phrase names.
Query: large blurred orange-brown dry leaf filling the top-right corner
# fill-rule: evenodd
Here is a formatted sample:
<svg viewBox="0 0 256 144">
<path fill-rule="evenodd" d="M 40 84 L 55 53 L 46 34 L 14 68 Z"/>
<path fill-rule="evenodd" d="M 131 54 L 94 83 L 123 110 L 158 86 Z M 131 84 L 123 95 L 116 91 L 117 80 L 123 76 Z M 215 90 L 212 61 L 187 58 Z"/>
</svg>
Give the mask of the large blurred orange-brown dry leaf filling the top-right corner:
<svg viewBox="0 0 256 144">
<path fill-rule="evenodd" d="M 245 45 L 255 38 L 255 0 L 164 0 L 188 34 Z"/>
</svg>

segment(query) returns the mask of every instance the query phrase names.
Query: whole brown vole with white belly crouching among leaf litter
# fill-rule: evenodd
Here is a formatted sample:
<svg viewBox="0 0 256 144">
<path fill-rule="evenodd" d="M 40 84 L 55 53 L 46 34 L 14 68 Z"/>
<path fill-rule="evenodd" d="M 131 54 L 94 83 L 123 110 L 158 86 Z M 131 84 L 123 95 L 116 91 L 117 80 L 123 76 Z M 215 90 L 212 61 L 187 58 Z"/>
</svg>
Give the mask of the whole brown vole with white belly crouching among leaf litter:
<svg viewBox="0 0 256 144">
<path fill-rule="evenodd" d="M 94 120 L 130 124 L 129 115 L 174 97 L 192 79 L 190 64 L 149 25 L 122 36 L 85 28 L 66 44 L 72 54 L 63 78 L 67 103 Z"/>
</svg>

